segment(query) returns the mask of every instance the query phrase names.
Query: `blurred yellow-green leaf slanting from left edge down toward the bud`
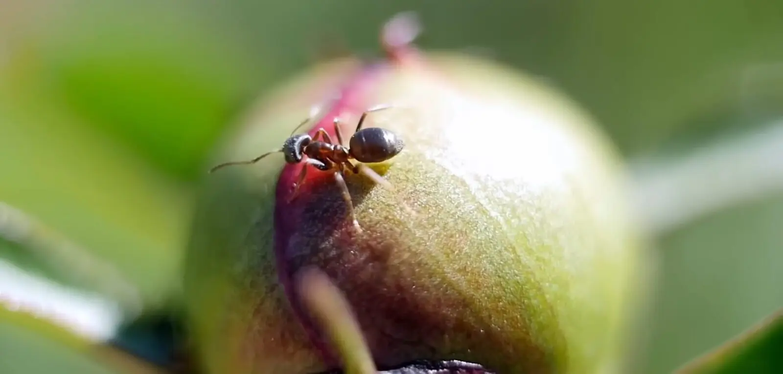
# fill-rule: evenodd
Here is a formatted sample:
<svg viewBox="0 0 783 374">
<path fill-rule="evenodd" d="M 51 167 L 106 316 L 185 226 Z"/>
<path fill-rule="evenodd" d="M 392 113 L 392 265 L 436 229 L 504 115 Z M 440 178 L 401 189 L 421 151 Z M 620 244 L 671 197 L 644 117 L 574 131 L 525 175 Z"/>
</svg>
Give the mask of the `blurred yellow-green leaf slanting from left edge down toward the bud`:
<svg viewBox="0 0 783 374">
<path fill-rule="evenodd" d="M 35 91 L 35 57 L 2 72 L 14 84 L 0 86 L 0 201 L 114 263 L 160 306 L 177 286 L 188 189 Z"/>
</svg>

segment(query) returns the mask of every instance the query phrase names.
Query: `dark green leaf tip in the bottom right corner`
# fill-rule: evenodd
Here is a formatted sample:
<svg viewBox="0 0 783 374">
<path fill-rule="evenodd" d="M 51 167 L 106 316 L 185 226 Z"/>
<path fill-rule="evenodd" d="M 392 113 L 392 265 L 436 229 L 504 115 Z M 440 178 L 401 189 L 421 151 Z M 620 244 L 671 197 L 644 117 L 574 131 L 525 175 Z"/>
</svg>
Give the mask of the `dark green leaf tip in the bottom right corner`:
<svg viewBox="0 0 783 374">
<path fill-rule="evenodd" d="M 783 309 L 685 365 L 682 374 L 783 372 Z"/>
</svg>

